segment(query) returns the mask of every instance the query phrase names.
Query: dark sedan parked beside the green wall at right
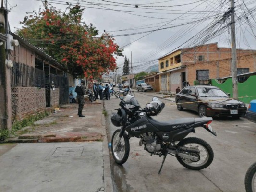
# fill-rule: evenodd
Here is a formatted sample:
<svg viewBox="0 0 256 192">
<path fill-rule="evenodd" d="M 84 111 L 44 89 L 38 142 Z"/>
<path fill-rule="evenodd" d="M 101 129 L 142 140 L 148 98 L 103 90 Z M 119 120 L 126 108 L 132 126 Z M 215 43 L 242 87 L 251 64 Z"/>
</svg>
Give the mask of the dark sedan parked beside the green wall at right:
<svg viewBox="0 0 256 192">
<path fill-rule="evenodd" d="M 175 97 L 177 109 L 183 108 L 198 112 L 203 116 L 231 116 L 234 119 L 245 115 L 246 104 L 229 98 L 219 87 L 197 85 L 187 86 Z"/>
</svg>

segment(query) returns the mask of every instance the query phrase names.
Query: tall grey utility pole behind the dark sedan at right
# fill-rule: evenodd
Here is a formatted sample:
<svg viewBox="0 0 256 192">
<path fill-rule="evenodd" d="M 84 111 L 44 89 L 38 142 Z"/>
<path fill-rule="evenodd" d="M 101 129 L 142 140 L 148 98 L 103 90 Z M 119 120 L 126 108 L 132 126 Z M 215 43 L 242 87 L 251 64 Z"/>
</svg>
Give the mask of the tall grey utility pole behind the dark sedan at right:
<svg viewBox="0 0 256 192">
<path fill-rule="evenodd" d="M 238 98 L 238 86 L 237 86 L 237 66 L 236 66 L 236 44 L 235 44 L 235 7 L 234 0 L 231 2 L 231 62 L 232 62 L 232 82 L 233 82 L 233 98 Z"/>
</svg>

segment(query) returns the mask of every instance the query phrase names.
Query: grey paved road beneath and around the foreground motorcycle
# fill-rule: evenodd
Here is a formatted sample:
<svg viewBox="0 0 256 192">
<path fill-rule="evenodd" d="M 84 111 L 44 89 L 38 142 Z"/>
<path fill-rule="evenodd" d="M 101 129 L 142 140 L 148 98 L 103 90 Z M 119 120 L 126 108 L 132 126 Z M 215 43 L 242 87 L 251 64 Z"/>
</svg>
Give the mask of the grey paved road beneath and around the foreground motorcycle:
<svg viewBox="0 0 256 192">
<path fill-rule="evenodd" d="M 142 107 L 152 100 L 152 96 L 135 93 Z M 178 111 L 171 101 L 162 101 L 165 103 L 165 108 L 156 117 L 157 120 L 198 117 L 192 111 Z M 114 96 L 105 101 L 109 142 L 113 132 L 118 129 L 111 124 L 110 114 L 115 108 L 119 108 L 119 102 L 120 100 Z M 204 139 L 214 151 L 212 164 L 200 171 L 184 168 L 176 157 L 167 156 L 162 172 L 158 175 L 163 157 L 150 156 L 143 146 L 139 146 L 139 139 L 131 138 L 130 155 L 126 163 L 122 166 L 117 165 L 110 156 L 114 191 L 245 192 L 246 170 L 256 161 L 256 124 L 244 118 L 238 120 L 218 118 L 214 119 L 211 125 L 217 137 L 203 128 L 196 128 L 196 133 L 187 136 Z"/>
</svg>

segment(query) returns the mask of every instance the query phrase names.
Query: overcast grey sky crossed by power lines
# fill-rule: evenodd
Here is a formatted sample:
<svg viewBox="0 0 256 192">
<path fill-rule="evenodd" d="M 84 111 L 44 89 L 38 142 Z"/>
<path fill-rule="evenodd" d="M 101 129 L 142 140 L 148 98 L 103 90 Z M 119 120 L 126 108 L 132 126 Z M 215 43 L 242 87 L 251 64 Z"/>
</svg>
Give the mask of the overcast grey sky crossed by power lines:
<svg viewBox="0 0 256 192">
<path fill-rule="evenodd" d="M 4 0 L 5 1 L 5 0 Z M 158 64 L 158 58 L 179 48 L 217 42 L 231 45 L 229 0 L 48 0 L 64 10 L 66 2 L 85 7 L 83 21 L 99 35 L 113 35 L 132 61 L 133 73 Z M 42 6 L 41 0 L 8 0 L 12 32 L 24 17 Z M 256 0 L 235 0 L 236 47 L 256 49 Z M 131 56 L 132 55 L 132 56 Z M 122 75 L 124 57 L 117 58 Z"/>
</svg>

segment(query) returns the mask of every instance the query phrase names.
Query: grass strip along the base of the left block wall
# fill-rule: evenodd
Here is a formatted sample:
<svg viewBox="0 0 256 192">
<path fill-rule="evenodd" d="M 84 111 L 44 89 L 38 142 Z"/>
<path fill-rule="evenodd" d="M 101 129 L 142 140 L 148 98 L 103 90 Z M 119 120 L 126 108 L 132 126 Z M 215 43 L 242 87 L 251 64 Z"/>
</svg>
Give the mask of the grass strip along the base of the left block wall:
<svg viewBox="0 0 256 192">
<path fill-rule="evenodd" d="M 42 118 L 44 118 L 44 117 L 46 117 L 48 115 L 49 115 L 48 112 L 37 113 L 36 115 L 29 116 L 28 118 L 26 118 L 24 120 L 15 121 L 12 124 L 12 129 L 11 130 L 1 129 L 0 128 L 0 141 L 3 141 L 4 139 L 9 138 L 11 134 L 12 135 L 16 135 L 17 132 L 19 132 L 24 127 L 31 126 L 31 125 L 34 126 L 34 122 L 35 121 L 40 120 L 40 119 L 42 119 Z M 26 131 L 22 131 L 21 133 L 23 133 L 23 132 L 26 132 Z"/>
</svg>

